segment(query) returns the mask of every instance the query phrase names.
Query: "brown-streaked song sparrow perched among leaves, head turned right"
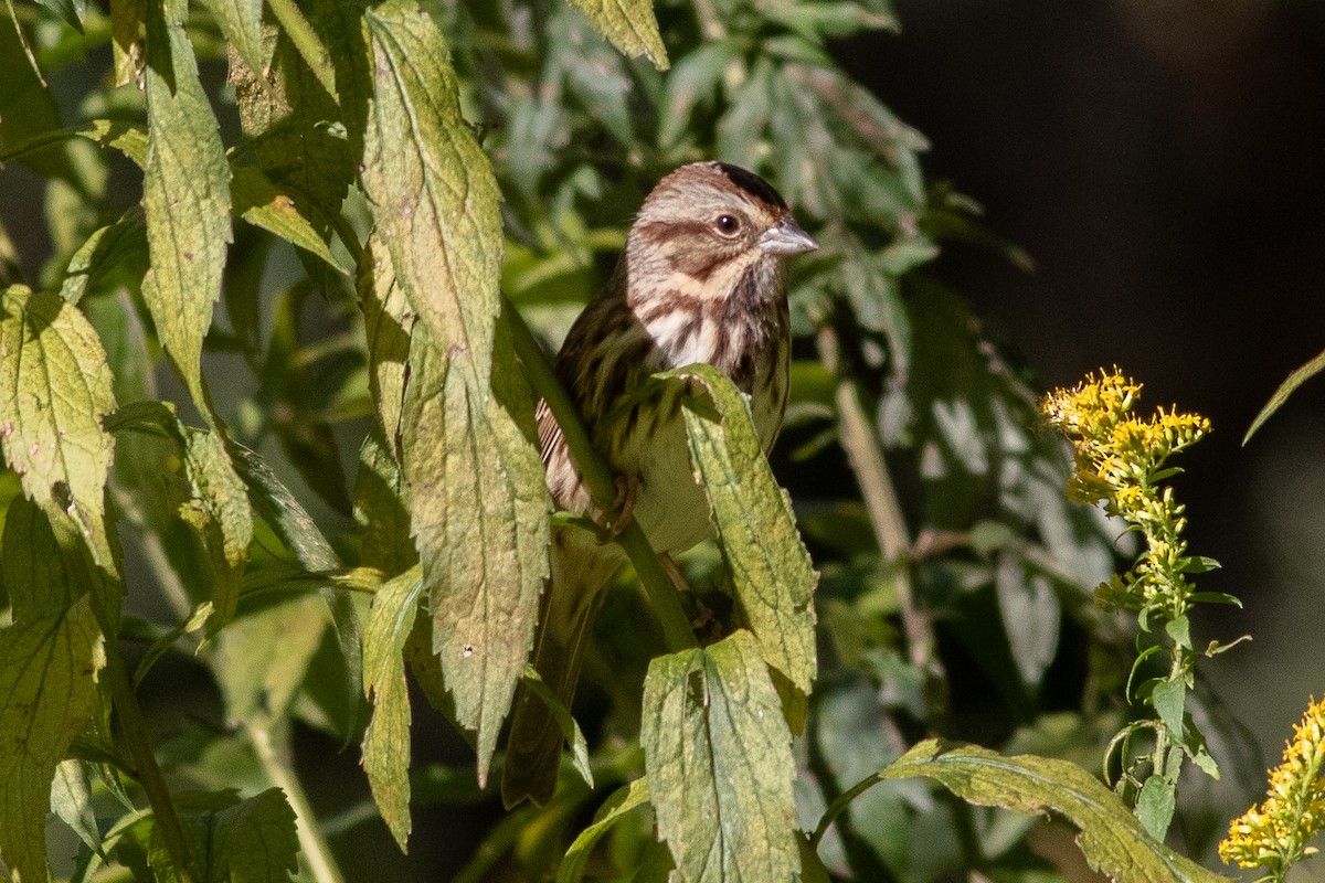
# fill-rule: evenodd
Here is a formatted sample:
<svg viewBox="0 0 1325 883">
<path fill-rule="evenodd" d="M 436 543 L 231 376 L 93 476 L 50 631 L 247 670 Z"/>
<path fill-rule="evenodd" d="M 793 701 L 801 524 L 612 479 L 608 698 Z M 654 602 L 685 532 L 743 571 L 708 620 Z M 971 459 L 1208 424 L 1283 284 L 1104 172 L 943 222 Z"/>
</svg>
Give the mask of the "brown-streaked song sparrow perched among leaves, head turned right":
<svg viewBox="0 0 1325 883">
<path fill-rule="evenodd" d="M 556 373 L 598 450 L 635 488 L 632 516 L 657 552 L 684 552 L 713 527 L 692 474 L 680 404 L 641 396 L 644 381 L 657 371 L 716 365 L 750 396 L 767 453 L 787 405 L 782 258 L 815 248 L 758 175 L 726 163 L 682 165 L 644 200 L 611 282 L 571 327 Z M 591 514 L 588 491 L 545 404 L 538 437 L 556 506 Z M 603 588 L 621 561 L 615 543 L 590 531 L 554 530 L 533 658 L 567 707 Z M 560 747 L 546 704 L 521 690 L 502 781 L 507 806 L 526 797 L 547 802 Z"/>
</svg>

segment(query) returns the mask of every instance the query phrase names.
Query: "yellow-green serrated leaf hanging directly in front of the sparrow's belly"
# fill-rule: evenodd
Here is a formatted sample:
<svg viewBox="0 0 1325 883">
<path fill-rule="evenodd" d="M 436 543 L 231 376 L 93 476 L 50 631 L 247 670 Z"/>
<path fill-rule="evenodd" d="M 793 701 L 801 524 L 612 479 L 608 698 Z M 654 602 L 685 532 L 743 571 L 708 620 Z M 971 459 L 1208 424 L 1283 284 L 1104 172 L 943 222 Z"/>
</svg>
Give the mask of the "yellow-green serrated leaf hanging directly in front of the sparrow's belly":
<svg viewBox="0 0 1325 883">
<path fill-rule="evenodd" d="M 768 665 L 808 694 L 815 678 L 814 593 L 819 580 L 730 379 L 712 365 L 662 375 L 704 387 L 685 401 L 690 462 L 709 498 L 737 601 Z M 716 410 L 714 410 L 716 408 Z"/>
</svg>

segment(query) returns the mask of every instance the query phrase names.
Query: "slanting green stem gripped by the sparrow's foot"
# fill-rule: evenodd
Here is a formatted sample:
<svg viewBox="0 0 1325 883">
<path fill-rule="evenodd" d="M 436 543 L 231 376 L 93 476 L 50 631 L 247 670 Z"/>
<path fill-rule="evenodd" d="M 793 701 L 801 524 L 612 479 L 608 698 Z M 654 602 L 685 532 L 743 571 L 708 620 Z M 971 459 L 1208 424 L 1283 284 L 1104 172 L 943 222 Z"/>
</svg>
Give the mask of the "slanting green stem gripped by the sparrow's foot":
<svg viewBox="0 0 1325 883">
<path fill-rule="evenodd" d="M 584 428 L 584 421 L 580 420 L 579 409 L 571 401 L 560 380 L 556 379 L 556 372 L 553 371 L 553 365 L 547 361 L 547 356 L 543 355 L 543 348 L 538 344 L 538 339 L 534 338 L 534 332 L 529 330 L 525 318 L 505 298 L 502 316 L 510 328 L 515 353 L 525 365 L 525 375 L 534 387 L 534 392 L 543 397 L 553 416 L 556 418 L 556 425 L 562 429 L 562 438 L 566 440 L 567 446 L 571 449 L 571 458 L 580 471 L 580 479 L 588 488 L 590 498 L 599 510 L 604 512 L 611 510 L 616 504 L 617 496 L 616 477 L 608 469 L 607 461 L 594 447 L 588 430 Z M 621 544 L 621 548 L 631 557 L 631 564 L 635 565 L 635 572 L 639 575 L 640 582 L 644 584 L 644 590 L 649 596 L 653 613 L 662 626 L 662 638 L 666 642 L 668 650 L 678 653 L 697 647 L 698 641 L 694 639 L 694 630 L 690 627 L 690 621 L 681 608 L 676 586 L 672 584 L 672 579 L 666 575 L 666 571 L 662 569 L 662 564 L 659 561 L 653 547 L 649 545 L 649 539 L 644 535 L 644 530 L 632 519 L 627 522 L 625 528 L 616 537 L 616 541 Z"/>
</svg>

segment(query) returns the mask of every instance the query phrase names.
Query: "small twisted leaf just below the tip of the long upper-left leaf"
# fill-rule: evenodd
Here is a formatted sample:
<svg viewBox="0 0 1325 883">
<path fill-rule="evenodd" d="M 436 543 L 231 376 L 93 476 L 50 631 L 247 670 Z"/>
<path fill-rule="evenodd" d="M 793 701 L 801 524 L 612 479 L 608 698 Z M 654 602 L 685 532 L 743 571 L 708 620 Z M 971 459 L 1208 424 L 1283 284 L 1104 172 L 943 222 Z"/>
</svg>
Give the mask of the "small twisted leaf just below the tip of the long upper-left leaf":
<svg viewBox="0 0 1325 883">
<path fill-rule="evenodd" d="M 240 600 L 240 582 L 248 547 L 253 540 L 253 510 L 248 487 L 240 481 L 215 432 L 184 432 L 184 463 L 195 499 L 180 507 L 180 516 L 197 531 L 212 556 L 212 618 L 207 633 L 215 635 Z"/>
</svg>

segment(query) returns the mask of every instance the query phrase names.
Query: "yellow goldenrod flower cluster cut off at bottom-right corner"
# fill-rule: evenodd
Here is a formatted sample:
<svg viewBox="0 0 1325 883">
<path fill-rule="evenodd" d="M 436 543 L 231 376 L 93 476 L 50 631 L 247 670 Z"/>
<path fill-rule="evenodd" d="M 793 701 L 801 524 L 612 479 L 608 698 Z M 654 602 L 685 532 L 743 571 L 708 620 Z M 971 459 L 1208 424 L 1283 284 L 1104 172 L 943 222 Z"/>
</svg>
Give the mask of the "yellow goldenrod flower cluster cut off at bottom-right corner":
<svg viewBox="0 0 1325 883">
<path fill-rule="evenodd" d="M 1284 747 L 1284 763 L 1271 770 L 1265 802 L 1252 806 L 1228 825 L 1219 845 L 1226 864 L 1261 867 L 1267 879 L 1283 880 L 1288 868 L 1316 850 L 1306 846 L 1325 827 L 1325 698 L 1312 699 L 1293 739 Z"/>
</svg>

